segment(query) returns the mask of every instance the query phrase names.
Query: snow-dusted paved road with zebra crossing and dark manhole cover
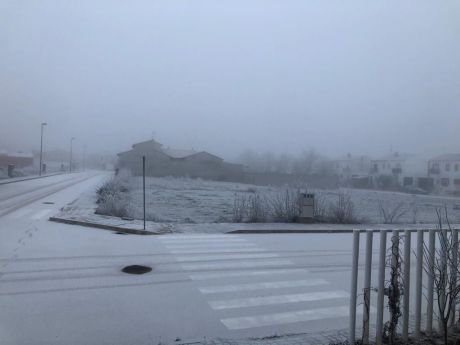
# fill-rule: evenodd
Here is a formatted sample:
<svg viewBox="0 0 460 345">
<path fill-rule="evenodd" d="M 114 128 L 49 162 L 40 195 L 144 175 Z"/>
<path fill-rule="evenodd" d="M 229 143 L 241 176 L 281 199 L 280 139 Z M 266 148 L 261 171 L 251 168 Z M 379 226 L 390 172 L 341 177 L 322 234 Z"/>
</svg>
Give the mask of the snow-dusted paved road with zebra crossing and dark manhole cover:
<svg viewBox="0 0 460 345">
<path fill-rule="evenodd" d="M 350 234 L 136 236 L 46 220 L 101 179 L 81 178 L 0 217 L 2 344 L 157 344 L 347 327 Z M 130 264 L 153 271 L 120 271 Z"/>
</svg>

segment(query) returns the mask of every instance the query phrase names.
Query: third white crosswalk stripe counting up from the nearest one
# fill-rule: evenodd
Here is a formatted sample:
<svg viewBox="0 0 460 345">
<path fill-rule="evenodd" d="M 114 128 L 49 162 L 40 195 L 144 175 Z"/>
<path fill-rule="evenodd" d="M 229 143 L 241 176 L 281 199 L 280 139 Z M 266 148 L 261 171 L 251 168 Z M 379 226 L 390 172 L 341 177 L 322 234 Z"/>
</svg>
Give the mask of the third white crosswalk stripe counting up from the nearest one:
<svg viewBox="0 0 460 345">
<path fill-rule="evenodd" d="M 262 282 L 253 284 L 237 284 L 237 285 L 218 285 L 218 286 L 207 286 L 200 287 L 200 291 L 203 294 L 214 294 L 223 292 L 236 292 L 236 291 L 254 291 L 263 289 L 281 289 L 291 287 L 303 287 L 303 286 L 318 286 L 329 284 L 324 279 L 309 279 L 309 280 L 288 280 L 288 281 L 276 281 L 276 282 Z"/>
</svg>

